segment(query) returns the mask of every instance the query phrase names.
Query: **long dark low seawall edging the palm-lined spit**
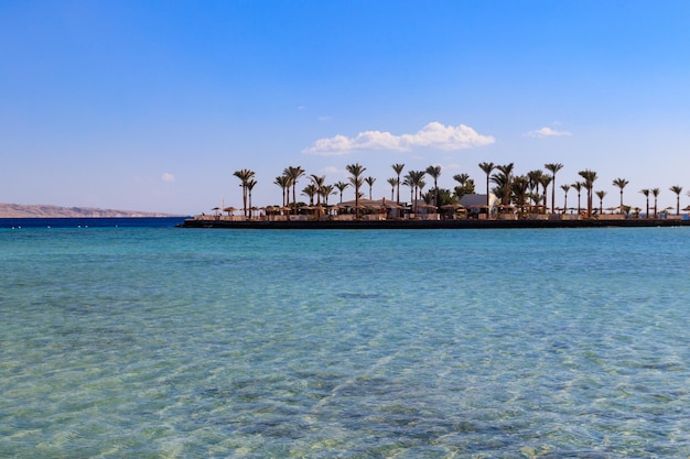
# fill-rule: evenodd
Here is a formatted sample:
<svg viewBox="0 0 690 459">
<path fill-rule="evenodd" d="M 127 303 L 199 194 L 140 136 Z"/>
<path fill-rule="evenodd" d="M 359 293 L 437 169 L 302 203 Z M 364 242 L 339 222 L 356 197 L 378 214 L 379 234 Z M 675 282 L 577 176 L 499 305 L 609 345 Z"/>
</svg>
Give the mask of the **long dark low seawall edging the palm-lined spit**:
<svg viewBox="0 0 690 459">
<path fill-rule="evenodd" d="M 212 220 L 185 219 L 179 228 L 206 229 L 541 229 L 690 227 L 690 220 Z"/>
</svg>

